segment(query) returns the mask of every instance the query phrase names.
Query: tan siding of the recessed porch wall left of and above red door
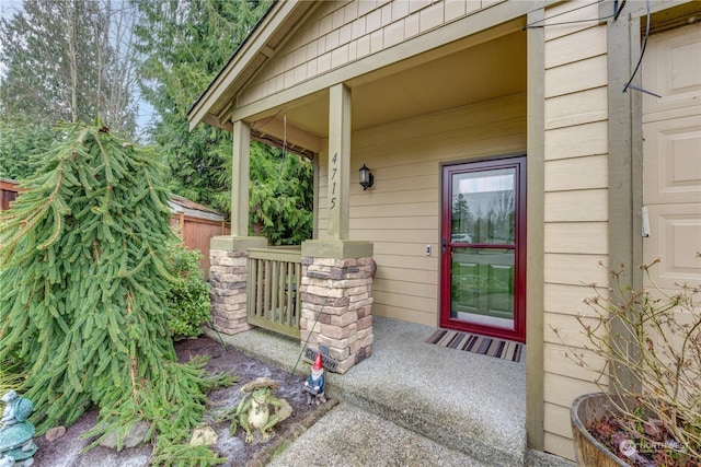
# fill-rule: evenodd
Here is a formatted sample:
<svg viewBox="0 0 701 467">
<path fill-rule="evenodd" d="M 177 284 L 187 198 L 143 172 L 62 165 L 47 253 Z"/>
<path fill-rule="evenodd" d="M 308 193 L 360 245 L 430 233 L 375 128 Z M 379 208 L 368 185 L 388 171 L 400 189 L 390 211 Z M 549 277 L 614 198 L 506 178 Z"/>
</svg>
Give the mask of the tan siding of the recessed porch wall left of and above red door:
<svg viewBox="0 0 701 467">
<path fill-rule="evenodd" d="M 525 148 L 522 94 L 353 133 L 352 171 L 366 164 L 375 175 L 375 187 L 367 191 L 353 183 L 349 199 L 350 240 L 375 244 L 372 313 L 437 325 L 440 163 L 522 153 Z M 326 192 L 326 167 L 321 157 L 321 194 Z M 320 238 L 325 237 L 326 206 L 322 196 Z"/>
</svg>

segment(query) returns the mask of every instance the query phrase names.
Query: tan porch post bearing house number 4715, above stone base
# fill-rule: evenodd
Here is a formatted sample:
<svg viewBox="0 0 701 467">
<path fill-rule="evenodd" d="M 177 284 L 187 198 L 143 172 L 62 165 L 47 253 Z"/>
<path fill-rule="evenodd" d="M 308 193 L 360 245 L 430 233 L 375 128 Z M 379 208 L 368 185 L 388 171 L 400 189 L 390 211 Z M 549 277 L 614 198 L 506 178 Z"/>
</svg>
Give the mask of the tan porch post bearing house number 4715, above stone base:
<svg viewBox="0 0 701 467">
<path fill-rule="evenodd" d="M 343 83 L 329 91 L 329 226 L 331 240 L 348 238 L 350 190 L 350 89 Z"/>
</svg>

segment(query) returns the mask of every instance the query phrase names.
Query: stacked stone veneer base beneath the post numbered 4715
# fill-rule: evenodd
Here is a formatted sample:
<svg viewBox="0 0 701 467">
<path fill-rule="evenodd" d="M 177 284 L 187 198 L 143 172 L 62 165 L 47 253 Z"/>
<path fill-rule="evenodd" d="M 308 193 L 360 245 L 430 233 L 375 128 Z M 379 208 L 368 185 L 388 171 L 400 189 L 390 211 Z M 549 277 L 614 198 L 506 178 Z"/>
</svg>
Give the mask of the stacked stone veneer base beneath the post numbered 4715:
<svg viewBox="0 0 701 467">
<path fill-rule="evenodd" d="M 318 351 L 320 343 L 327 346 L 338 373 L 372 354 L 374 273 L 371 257 L 302 257 L 301 345 L 309 338 L 311 349 Z"/>
</svg>

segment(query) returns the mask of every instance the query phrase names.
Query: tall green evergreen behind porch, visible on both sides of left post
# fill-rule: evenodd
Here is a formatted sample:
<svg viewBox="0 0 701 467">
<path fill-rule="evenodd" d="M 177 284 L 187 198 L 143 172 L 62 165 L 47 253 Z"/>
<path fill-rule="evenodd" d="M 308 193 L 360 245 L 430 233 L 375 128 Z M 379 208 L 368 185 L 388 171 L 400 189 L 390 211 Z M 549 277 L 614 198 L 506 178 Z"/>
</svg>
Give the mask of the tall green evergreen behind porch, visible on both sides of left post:
<svg viewBox="0 0 701 467">
<path fill-rule="evenodd" d="M 160 120 L 152 136 L 171 170 L 170 189 L 229 217 L 231 133 L 207 125 L 188 132 L 187 109 L 223 68 L 271 1 L 139 2 L 142 94 Z M 313 170 L 295 154 L 251 143 L 251 217 L 271 244 L 312 235 Z"/>
</svg>

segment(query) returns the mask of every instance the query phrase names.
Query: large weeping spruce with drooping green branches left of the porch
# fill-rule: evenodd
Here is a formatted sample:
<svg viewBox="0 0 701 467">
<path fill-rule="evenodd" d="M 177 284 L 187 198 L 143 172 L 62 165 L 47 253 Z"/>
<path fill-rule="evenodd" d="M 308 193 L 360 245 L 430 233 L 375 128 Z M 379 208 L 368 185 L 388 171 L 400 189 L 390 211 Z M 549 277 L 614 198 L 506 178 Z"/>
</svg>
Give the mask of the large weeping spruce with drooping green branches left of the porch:
<svg viewBox="0 0 701 467">
<path fill-rule="evenodd" d="M 177 363 L 168 327 L 162 170 L 106 128 L 65 130 L 2 214 L 0 361 L 23 364 L 39 433 L 95 405 L 91 434 L 147 420 L 157 455 L 169 452 L 187 442 L 214 383 L 202 363 Z"/>
</svg>

